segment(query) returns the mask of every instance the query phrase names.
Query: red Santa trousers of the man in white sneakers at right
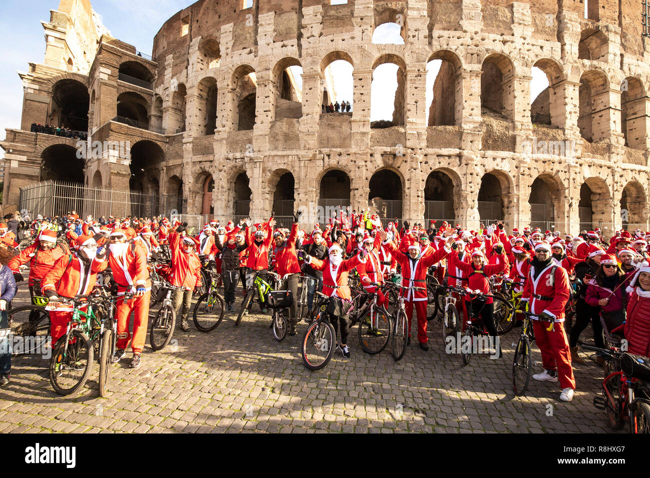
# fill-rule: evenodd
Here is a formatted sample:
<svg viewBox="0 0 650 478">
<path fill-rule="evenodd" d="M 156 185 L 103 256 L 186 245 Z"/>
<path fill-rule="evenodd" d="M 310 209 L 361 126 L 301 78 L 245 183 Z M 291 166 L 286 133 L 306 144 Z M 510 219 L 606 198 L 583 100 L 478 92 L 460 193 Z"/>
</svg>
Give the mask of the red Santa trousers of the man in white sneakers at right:
<svg viewBox="0 0 650 478">
<path fill-rule="evenodd" d="M 571 368 L 569 341 L 564 333 L 564 322 L 556 322 L 553 330 L 546 330 L 548 322 L 532 321 L 535 341 L 541 351 L 541 363 L 547 370 L 557 370 L 560 386 L 575 388 L 575 378 Z"/>
</svg>

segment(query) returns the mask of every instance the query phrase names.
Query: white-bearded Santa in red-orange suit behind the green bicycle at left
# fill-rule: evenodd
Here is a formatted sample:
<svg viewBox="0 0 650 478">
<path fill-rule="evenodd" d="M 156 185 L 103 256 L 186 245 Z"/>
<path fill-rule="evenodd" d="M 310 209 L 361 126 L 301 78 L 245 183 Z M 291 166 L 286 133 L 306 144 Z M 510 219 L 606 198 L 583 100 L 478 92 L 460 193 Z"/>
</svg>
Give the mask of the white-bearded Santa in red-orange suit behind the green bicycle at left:
<svg viewBox="0 0 650 478">
<path fill-rule="evenodd" d="M 73 312 L 73 305 L 61 304 L 59 297 L 72 299 L 75 295 L 88 295 L 95 287 L 97 273 L 107 267 L 106 261 L 96 258 L 99 237 L 103 236 L 78 236 L 77 253 L 61 256 L 41 281 L 41 293 L 49 298 L 46 310 L 49 310 L 53 348 L 66 333 Z"/>
</svg>

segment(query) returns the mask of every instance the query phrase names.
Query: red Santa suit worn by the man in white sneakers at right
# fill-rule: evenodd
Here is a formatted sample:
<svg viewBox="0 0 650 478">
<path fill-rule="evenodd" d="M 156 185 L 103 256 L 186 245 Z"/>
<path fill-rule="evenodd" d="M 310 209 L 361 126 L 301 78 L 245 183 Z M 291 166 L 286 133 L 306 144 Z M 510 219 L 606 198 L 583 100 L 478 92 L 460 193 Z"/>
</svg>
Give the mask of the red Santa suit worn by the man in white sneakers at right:
<svg viewBox="0 0 650 478">
<path fill-rule="evenodd" d="M 530 312 L 545 312 L 554 317 L 553 330 L 547 330 L 547 322 L 533 321 L 535 341 L 541 351 L 543 367 L 557 370 L 560 386 L 575 388 L 571 368 L 571 351 L 564 332 L 564 307 L 569 300 L 569 276 L 564 267 L 552 260 L 542 271 L 530 265 L 528 280 L 524 285 L 522 300 L 530 300 Z"/>
</svg>

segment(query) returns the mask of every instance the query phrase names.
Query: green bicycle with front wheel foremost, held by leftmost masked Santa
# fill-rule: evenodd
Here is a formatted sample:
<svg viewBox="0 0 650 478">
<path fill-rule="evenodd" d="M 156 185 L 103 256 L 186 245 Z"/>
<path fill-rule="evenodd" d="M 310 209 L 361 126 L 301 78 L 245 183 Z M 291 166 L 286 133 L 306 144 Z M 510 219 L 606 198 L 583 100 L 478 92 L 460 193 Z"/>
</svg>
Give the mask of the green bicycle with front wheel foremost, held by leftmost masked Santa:
<svg viewBox="0 0 650 478">
<path fill-rule="evenodd" d="M 62 304 L 72 304 L 73 312 L 66 333 L 53 346 L 49 365 L 49 381 L 59 395 L 76 393 L 88 380 L 94 349 L 96 345 L 99 347 L 101 318 L 93 307 L 98 300 L 105 299 L 101 296 L 77 295 L 72 299 L 60 300 Z M 86 308 L 86 312 L 82 308 Z"/>
</svg>

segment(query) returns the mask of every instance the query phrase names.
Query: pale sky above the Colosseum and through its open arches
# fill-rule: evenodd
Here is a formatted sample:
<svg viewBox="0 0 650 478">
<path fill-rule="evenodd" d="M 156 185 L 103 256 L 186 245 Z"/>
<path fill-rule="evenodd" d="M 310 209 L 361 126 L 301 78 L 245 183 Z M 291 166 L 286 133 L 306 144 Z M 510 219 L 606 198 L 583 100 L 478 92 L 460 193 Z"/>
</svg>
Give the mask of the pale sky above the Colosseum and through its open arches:
<svg viewBox="0 0 650 478">
<path fill-rule="evenodd" d="M 190 5 L 191 0 L 92 0 L 92 7 L 112 36 L 131 44 L 138 51 L 151 54 L 153 37 L 162 24 L 179 10 Z M 343 2 L 344 3 L 344 2 Z M 29 8 L 24 0 L 0 0 L 0 42 L 3 51 L 3 68 L 0 70 L 0 138 L 5 128 L 18 128 L 23 96 L 21 80 L 17 71 L 27 71 L 28 62 L 42 63 L 45 55 L 44 30 L 41 21 L 49 21 L 49 10 L 59 7 L 57 0 L 32 0 Z M 402 42 L 399 25 L 380 25 L 373 36 L 375 43 Z M 13 49 L 8 47 L 13 46 Z M 335 90 L 339 101 L 352 103 L 352 68 L 343 60 L 336 62 L 333 72 Z M 341 64 L 341 66 L 338 66 Z M 431 92 L 440 61 L 434 60 L 427 67 L 426 111 L 432 101 Z M 397 66 L 385 64 L 373 75 L 370 120 L 392 118 L 395 100 Z M 533 70 L 536 70 L 534 68 Z M 300 73 L 296 69 L 294 73 Z M 543 73 L 533 71 L 531 98 L 535 98 L 547 86 Z M 333 102 L 333 101 L 332 101 Z M 354 104 L 352 105 L 354 109 Z M 0 150 L 0 155 L 3 152 Z"/>
</svg>

